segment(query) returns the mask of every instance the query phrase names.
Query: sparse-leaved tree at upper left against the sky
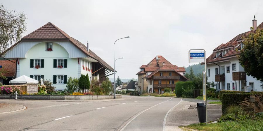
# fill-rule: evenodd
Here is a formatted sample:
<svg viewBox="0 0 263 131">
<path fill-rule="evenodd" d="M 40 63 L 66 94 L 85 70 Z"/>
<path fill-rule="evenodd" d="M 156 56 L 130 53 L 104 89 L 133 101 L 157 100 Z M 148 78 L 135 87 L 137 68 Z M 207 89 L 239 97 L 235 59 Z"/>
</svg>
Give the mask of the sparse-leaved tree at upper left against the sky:
<svg viewBox="0 0 263 131">
<path fill-rule="evenodd" d="M 24 12 L 16 12 L 0 5 L 0 52 L 17 42 L 26 31 Z"/>
</svg>

